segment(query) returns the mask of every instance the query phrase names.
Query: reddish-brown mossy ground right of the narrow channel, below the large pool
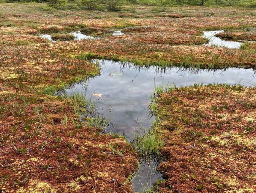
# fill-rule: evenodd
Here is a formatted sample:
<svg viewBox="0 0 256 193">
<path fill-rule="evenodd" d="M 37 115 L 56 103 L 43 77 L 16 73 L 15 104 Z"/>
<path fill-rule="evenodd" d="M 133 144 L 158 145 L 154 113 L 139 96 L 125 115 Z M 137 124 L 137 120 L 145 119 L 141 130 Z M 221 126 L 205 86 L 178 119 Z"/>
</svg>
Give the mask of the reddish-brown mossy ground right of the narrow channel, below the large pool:
<svg viewBox="0 0 256 193">
<path fill-rule="evenodd" d="M 182 87 L 157 104 L 166 159 L 159 192 L 255 192 L 255 88 Z"/>
</svg>

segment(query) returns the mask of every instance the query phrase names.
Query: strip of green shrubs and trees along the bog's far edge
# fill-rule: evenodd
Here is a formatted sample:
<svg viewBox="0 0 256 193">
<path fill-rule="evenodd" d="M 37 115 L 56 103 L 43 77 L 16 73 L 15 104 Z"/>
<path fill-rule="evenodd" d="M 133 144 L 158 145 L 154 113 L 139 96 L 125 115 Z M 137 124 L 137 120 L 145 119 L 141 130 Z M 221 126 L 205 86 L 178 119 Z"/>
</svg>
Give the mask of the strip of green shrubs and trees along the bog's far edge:
<svg viewBox="0 0 256 193">
<path fill-rule="evenodd" d="M 256 0 L 4 0 L 7 3 L 47 3 L 45 9 L 87 9 L 121 11 L 129 4 L 147 6 L 208 5 L 208 6 L 256 6 Z"/>
</svg>

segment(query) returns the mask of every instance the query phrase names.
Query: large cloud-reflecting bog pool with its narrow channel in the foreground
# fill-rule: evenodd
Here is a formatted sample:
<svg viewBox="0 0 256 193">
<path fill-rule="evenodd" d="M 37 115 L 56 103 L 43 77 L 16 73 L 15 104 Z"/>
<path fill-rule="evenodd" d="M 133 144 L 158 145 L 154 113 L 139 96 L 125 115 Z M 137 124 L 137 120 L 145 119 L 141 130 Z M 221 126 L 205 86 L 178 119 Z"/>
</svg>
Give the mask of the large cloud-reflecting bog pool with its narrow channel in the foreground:
<svg viewBox="0 0 256 193">
<path fill-rule="evenodd" d="M 144 128 L 150 128 L 154 117 L 149 116 L 150 95 L 155 86 L 189 86 L 195 83 L 227 83 L 245 86 L 256 85 L 253 69 L 227 68 L 225 70 L 185 69 L 159 67 L 138 67 L 132 63 L 123 64 L 100 60 L 101 73 L 87 81 L 71 85 L 65 91 L 68 95 L 86 94 L 96 102 L 98 112 L 111 121 L 115 130 L 132 140 Z M 154 185 L 162 175 L 156 172 L 157 161 L 141 161 L 133 190 Z"/>
</svg>

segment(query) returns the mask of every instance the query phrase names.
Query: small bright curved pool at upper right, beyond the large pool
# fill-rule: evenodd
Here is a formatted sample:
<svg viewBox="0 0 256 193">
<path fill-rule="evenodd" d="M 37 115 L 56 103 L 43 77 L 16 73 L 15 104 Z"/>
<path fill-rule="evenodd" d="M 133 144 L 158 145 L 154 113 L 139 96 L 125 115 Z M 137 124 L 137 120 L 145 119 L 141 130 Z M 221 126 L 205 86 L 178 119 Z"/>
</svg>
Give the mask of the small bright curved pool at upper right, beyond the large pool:
<svg viewBox="0 0 256 193">
<path fill-rule="evenodd" d="M 205 31 L 203 37 L 209 39 L 209 46 L 220 46 L 220 47 L 227 47 L 227 48 L 240 48 L 242 43 L 241 42 L 233 42 L 233 41 L 226 41 L 216 37 L 216 34 L 223 32 L 223 30 L 219 31 Z"/>
</svg>

